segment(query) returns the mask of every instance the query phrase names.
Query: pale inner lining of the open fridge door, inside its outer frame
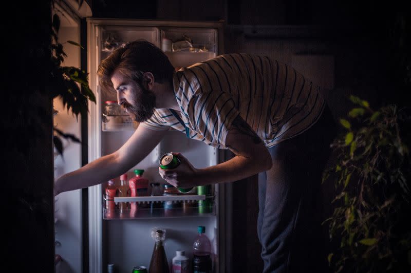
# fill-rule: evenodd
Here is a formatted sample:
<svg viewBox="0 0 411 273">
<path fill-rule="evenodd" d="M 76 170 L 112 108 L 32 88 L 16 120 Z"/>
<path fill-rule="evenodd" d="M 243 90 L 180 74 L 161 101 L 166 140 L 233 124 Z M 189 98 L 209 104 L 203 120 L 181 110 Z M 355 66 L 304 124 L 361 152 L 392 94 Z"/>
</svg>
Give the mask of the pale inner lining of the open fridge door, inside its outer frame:
<svg viewBox="0 0 411 273">
<path fill-rule="evenodd" d="M 190 27 L 161 27 L 161 26 L 100 26 L 101 39 L 97 39 L 97 54 L 100 59 L 109 55 L 115 47 L 121 46 L 127 41 L 135 39 L 146 39 L 161 48 L 163 37 L 173 41 L 181 37 L 188 36 L 193 41 L 193 47 L 199 45 L 201 50 L 186 50 L 166 52 L 175 67 L 183 67 L 203 61 L 217 55 L 217 30 L 207 28 Z M 107 100 L 117 100 L 116 93 L 101 92 L 98 96 L 100 110 L 97 115 L 104 114 L 104 104 Z M 104 116 L 101 122 L 101 156 L 110 154 L 119 149 L 124 142 L 134 133 L 138 123 L 118 124 L 119 126 L 107 128 L 104 124 Z M 159 156 L 164 153 L 179 152 L 189 159 L 197 168 L 207 167 L 218 163 L 218 150 L 200 141 L 186 138 L 181 132 L 167 132 L 161 143 L 136 166 L 127 172 L 128 179 L 134 177 L 134 169 L 143 169 L 144 178 L 150 182 L 165 183 L 158 174 Z M 119 177 L 115 178 L 116 185 L 119 185 Z M 166 229 L 165 251 L 166 257 L 171 264 L 176 250 L 185 250 L 186 256 L 192 258 L 192 247 L 194 238 L 197 235 L 197 226 L 206 227 L 206 235 L 212 241 L 213 252 L 217 253 L 218 246 L 218 209 L 217 195 L 218 185 L 212 185 L 212 195 L 214 203 L 212 211 L 208 213 L 184 214 L 181 211 L 173 214 L 173 217 L 166 217 L 164 214 L 153 217 L 150 213 L 141 214 L 140 217 L 130 217 L 120 219 L 116 214 L 109 218 L 104 209 L 104 191 L 107 183 L 103 183 L 101 190 L 101 206 L 103 207 L 102 221 L 102 269 L 107 270 L 107 264 L 115 264 L 116 272 L 130 272 L 134 266 L 143 265 L 148 268 L 154 247 L 154 240 L 151 238 L 151 229 L 161 227 Z M 149 192 L 150 194 L 150 192 Z M 127 211 L 128 212 L 128 211 Z M 138 214 L 139 215 L 139 214 Z M 215 261 L 216 262 L 216 261 Z M 216 264 L 214 263 L 213 267 Z M 217 266 L 218 268 L 218 266 Z"/>
</svg>

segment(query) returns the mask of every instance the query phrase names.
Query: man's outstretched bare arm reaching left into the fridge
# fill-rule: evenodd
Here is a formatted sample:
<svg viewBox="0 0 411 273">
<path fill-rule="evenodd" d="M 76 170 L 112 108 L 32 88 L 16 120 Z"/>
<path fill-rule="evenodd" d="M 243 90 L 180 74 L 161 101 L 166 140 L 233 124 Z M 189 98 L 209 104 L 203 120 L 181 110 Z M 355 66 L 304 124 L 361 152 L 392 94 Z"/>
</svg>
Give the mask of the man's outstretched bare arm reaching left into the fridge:
<svg viewBox="0 0 411 273">
<path fill-rule="evenodd" d="M 139 126 L 116 152 L 98 158 L 77 171 L 55 181 L 54 194 L 97 185 L 127 172 L 143 160 L 160 142 L 167 131 L 154 131 Z"/>
</svg>

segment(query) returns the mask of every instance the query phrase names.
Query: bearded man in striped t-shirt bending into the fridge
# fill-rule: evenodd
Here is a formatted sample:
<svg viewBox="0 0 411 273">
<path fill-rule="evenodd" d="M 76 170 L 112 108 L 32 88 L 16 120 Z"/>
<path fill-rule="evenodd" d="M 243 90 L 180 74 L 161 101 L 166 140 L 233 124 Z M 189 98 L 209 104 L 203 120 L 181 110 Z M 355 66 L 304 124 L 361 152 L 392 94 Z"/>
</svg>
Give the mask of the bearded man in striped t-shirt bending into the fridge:
<svg viewBox="0 0 411 273">
<path fill-rule="evenodd" d="M 220 55 L 175 72 L 147 41 L 115 50 L 98 75 L 102 88 L 116 90 L 118 103 L 140 125 L 118 151 L 59 178 L 56 194 L 125 173 L 174 128 L 235 157 L 196 169 L 177 153 L 176 169 L 159 168 L 164 180 L 189 188 L 259 173 L 264 272 L 321 271 L 315 216 L 334 129 L 318 87 L 279 61 L 248 54 Z"/>
</svg>

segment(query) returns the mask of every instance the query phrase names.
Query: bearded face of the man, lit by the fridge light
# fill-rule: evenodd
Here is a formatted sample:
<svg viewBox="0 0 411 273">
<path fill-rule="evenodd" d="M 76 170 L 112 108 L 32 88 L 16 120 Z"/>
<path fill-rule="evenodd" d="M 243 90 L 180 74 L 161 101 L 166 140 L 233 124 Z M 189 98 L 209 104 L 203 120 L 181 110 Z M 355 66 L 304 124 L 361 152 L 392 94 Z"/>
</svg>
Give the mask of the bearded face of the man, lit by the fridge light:
<svg viewBox="0 0 411 273">
<path fill-rule="evenodd" d="M 113 87 L 117 91 L 117 102 L 137 122 L 146 121 L 153 115 L 156 106 L 155 94 L 125 77 L 118 70 L 111 76 Z"/>
</svg>

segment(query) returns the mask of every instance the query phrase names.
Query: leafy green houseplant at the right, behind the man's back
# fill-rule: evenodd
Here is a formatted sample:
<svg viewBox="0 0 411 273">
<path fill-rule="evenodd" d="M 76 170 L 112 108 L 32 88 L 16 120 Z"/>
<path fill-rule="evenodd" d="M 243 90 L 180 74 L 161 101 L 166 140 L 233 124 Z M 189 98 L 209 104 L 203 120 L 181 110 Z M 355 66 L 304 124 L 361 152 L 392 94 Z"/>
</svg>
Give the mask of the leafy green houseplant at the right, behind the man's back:
<svg viewBox="0 0 411 273">
<path fill-rule="evenodd" d="M 411 271 L 409 108 L 373 110 L 356 96 L 335 139 L 337 162 L 324 173 L 335 186 L 333 214 L 325 221 L 334 245 L 334 272 Z"/>
</svg>

